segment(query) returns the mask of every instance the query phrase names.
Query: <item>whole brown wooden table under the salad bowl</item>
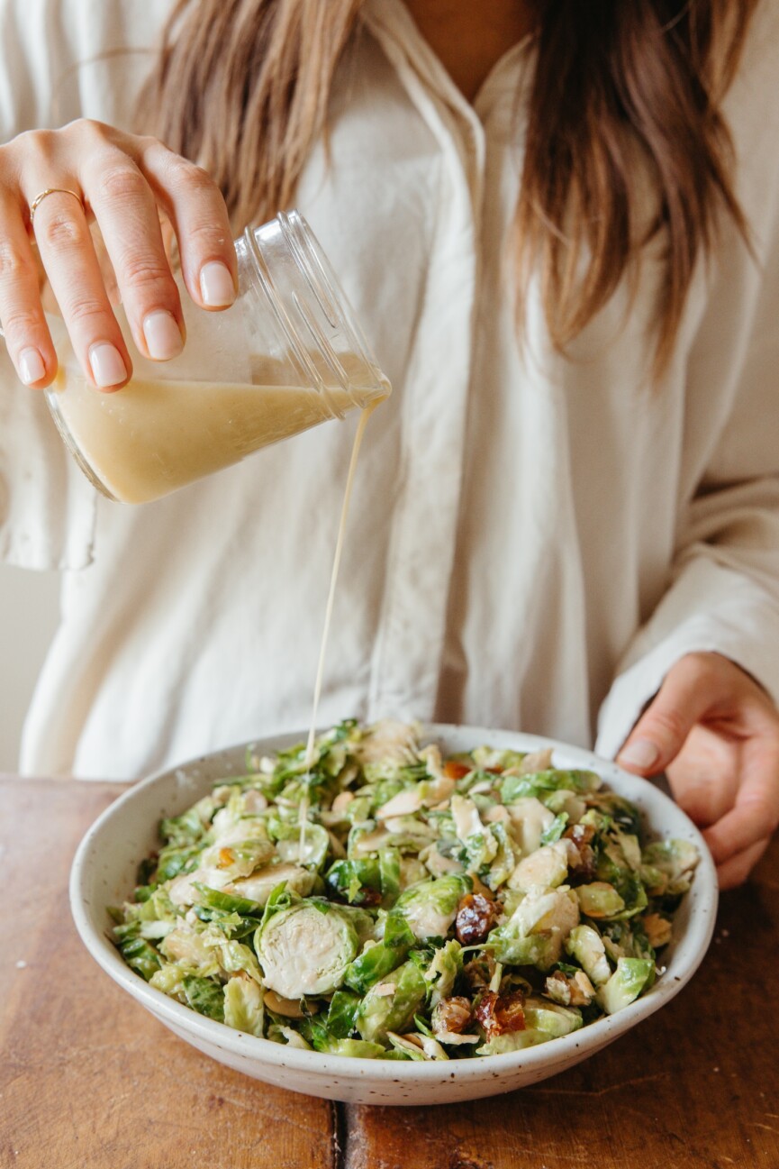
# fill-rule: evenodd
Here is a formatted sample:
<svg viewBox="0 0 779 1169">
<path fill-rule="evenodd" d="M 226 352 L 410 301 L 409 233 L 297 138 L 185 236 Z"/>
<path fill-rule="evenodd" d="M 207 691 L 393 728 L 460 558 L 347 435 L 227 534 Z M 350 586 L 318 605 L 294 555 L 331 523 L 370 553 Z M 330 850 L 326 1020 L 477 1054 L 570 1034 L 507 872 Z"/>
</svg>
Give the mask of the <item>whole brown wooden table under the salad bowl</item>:
<svg viewBox="0 0 779 1169">
<path fill-rule="evenodd" d="M 779 1169 L 779 839 L 662 1011 L 510 1095 L 368 1108 L 228 1071 L 84 950 L 68 871 L 121 787 L 0 779 L 2 1169 Z"/>
</svg>

